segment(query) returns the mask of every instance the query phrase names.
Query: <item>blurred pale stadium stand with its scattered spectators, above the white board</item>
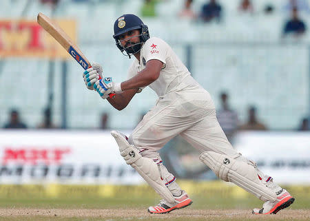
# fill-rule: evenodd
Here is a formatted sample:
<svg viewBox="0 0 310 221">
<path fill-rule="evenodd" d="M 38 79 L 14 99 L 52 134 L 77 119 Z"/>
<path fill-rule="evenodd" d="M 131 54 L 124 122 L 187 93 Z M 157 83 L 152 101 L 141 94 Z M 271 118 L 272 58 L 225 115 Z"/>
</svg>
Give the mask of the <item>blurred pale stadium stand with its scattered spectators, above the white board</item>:
<svg viewBox="0 0 310 221">
<path fill-rule="evenodd" d="M 103 61 L 104 70 L 119 81 L 125 79 L 129 63 L 122 61 L 112 41 L 112 24 L 121 14 L 137 14 L 149 25 L 152 36 L 161 36 L 172 44 L 194 78 L 211 93 L 228 137 L 238 130 L 310 129 L 307 0 L 2 0 L 1 5 L 0 19 L 4 20 L 35 19 L 40 11 L 55 18 L 73 17 L 79 24 L 79 44 L 90 55 L 89 60 Z M 95 34 L 89 34 L 88 28 Z M 99 97 L 89 97 L 81 89 L 81 69 L 69 61 L 70 78 L 72 73 L 79 79 L 72 80 L 70 92 L 74 93 L 70 93 L 70 99 L 75 99 L 68 101 L 68 123 L 63 126 L 57 104 L 61 101 L 56 86 L 58 63 L 55 61 L 51 80 L 48 60 L 1 58 L 1 127 L 130 129 L 155 101 L 154 94 L 147 91 L 134 100 L 138 110 L 128 107 L 128 111 L 115 114 Z M 17 65 L 16 70 L 10 69 L 12 65 Z M 31 99 L 42 88 L 33 88 L 28 81 L 21 82 L 28 90 L 23 94 L 27 98 L 18 98 L 18 93 L 12 92 L 14 88 L 8 90 L 7 72 L 33 78 L 30 73 L 39 71 L 46 75 L 47 82 L 41 87 L 55 84 L 52 92 L 44 90 L 44 98 Z M 103 104 L 93 108 L 98 103 Z M 90 118 L 88 124 L 81 120 L 86 117 Z"/>
</svg>

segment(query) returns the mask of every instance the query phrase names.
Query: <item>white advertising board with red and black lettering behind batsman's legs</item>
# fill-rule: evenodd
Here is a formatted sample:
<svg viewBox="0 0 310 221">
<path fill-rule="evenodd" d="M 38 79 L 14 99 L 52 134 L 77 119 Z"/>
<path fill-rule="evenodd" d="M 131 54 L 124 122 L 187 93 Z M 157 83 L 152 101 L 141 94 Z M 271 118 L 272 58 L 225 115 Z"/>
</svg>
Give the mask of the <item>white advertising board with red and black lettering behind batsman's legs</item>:
<svg viewBox="0 0 310 221">
<path fill-rule="evenodd" d="M 309 133 L 244 132 L 236 136 L 234 148 L 277 183 L 310 185 Z M 1 185 L 143 183 L 120 156 L 110 131 L 0 130 Z"/>
</svg>

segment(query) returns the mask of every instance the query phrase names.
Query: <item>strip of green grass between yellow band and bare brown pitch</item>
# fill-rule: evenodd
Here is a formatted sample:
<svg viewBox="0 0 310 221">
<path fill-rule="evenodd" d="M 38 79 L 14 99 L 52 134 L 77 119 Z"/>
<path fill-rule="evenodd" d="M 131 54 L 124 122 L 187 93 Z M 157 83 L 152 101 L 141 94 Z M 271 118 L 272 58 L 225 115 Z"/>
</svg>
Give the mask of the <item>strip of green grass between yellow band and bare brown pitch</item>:
<svg viewBox="0 0 310 221">
<path fill-rule="evenodd" d="M 262 201 L 254 196 L 249 198 L 223 198 L 215 196 L 191 196 L 194 203 L 193 209 L 252 209 L 261 207 Z M 123 198 L 0 198 L 1 208 L 57 208 L 57 209 L 117 209 L 146 208 L 157 204 L 159 198 L 135 198 L 124 196 Z M 310 200 L 307 197 L 297 196 L 293 204 L 294 209 L 310 209 Z"/>
</svg>

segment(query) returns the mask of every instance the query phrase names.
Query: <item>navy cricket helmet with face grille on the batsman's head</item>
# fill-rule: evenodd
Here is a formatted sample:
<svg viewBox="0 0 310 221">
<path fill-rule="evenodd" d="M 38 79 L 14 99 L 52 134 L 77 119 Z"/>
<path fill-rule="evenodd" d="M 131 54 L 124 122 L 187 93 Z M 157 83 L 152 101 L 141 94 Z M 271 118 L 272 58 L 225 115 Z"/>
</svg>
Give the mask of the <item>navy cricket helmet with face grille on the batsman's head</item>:
<svg viewBox="0 0 310 221">
<path fill-rule="evenodd" d="M 140 34 L 137 35 L 137 36 L 140 36 L 140 42 L 124 48 L 123 45 L 121 44 L 122 41 L 120 41 L 118 37 L 121 36 L 121 34 L 125 34 L 126 32 L 129 32 L 131 30 L 140 30 Z M 135 36 L 132 36 L 131 38 L 133 37 Z M 143 43 L 145 43 L 145 41 L 149 39 L 149 29 L 147 28 L 147 25 L 143 24 L 143 21 L 141 21 L 141 19 L 139 19 L 136 15 L 123 14 L 121 17 L 116 19 L 114 23 L 113 38 L 116 41 L 117 48 L 121 50 L 121 52 L 124 55 L 127 55 L 130 57 L 130 55 L 140 52 Z"/>
</svg>

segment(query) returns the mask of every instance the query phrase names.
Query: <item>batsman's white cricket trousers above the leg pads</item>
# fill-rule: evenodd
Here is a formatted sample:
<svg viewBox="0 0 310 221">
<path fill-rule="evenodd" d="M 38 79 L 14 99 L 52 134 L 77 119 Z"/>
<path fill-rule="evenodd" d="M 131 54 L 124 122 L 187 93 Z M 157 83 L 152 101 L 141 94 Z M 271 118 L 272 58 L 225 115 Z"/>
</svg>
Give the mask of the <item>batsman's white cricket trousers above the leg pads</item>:
<svg viewBox="0 0 310 221">
<path fill-rule="evenodd" d="M 198 85 L 159 97 L 132 132 L 130 143 L 142 156 L 160 158 L 157 151 L 178 134 L 200 153 L 238 155 L 218 124 L 209 92 Z"/>
</svg>

